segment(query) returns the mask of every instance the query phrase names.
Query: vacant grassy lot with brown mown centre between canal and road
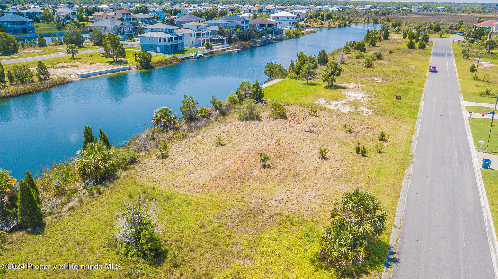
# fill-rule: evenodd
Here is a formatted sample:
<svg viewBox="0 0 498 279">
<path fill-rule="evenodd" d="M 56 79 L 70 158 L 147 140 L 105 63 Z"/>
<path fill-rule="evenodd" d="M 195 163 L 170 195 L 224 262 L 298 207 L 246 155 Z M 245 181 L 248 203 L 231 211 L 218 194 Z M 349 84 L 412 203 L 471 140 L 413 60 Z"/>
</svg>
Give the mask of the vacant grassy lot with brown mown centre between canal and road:
<svg viewBox="0 0 498 279">
<path fill-rule="evenodd" d="M 366 188 L 392 222 L 430 54 L 406 49 L 402 39 L 367 50 L 381 51 L 383 60 L 366 69 L 350 59 L 332 89 L 301 80 L 266 87 L 265 99 L 288 103 L 286 119 L 269 118 L 264 108 L 258 121 L 239 122 L 232 114 L 172 145 L 167 159 L 144 154 L 104 195 L 46 218 L 37 235 L 12 235 L 2 256 L 8 262 L 121 263 L 121 270 L 4 271 L 5 277 L 336 278 L 335 269 L 319 260 L 328 209 L 344 191 Z M 309 108 L 317 102 L 323 106 L 312 117 Z M 347 133 L 344 125 L 350 123 L 355 128 Z M 377 139 L 381 130 L 386 141 Z M 225 145 L 217 146 L 216 137 Z M 365 157 L 354 151 L 358 141 L 367 147 Z M 318 147 L 328 148 L 326 159 Z M 261 166 L 259 152 L 268 153 L 269 167 Z M 122 198 L 136 197 L 138 183 L 165 222 L 170 252 L 164 263 L 125 259 L 111 238 L 113 212 L 123 208 Z M 359 277 L 380 276 L 389 231 L 369 247 Z"/>
</svg>

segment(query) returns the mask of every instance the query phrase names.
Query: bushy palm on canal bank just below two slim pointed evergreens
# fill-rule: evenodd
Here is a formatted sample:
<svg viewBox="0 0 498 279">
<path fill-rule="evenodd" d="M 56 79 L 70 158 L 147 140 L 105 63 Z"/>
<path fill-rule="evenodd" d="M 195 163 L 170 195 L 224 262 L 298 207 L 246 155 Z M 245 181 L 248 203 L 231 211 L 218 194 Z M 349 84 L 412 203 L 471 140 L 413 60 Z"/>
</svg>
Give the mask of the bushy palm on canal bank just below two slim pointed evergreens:
<svg viewBox="0 0 498 279">
<path fill-rule="evenodd" d="M 86 148 L 76 152 L 76 169 L 83 180 L 99 181 L 108 179 L 116 171 L 114 152 L 104 143 L 90 142 Z"/>
</svg>

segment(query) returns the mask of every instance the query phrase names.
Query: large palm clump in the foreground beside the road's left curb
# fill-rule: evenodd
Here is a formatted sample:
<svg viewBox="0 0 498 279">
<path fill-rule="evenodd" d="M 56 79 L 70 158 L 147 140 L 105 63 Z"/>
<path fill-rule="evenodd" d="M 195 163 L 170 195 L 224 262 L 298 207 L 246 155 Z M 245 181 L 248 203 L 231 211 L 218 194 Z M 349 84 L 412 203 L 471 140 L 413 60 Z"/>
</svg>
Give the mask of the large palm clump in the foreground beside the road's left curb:
<svg viewBox="0 0 498 279">
<path fill-rule="evenodd" d="M 327 264 L 345 271 L 359 268 L 367 256 L 369 242 L 387 228 L 387 215 L 369 190 L 354 189 L 334 202 L 330 224 L 320 239 L 321 256 Z"/>
</svg>

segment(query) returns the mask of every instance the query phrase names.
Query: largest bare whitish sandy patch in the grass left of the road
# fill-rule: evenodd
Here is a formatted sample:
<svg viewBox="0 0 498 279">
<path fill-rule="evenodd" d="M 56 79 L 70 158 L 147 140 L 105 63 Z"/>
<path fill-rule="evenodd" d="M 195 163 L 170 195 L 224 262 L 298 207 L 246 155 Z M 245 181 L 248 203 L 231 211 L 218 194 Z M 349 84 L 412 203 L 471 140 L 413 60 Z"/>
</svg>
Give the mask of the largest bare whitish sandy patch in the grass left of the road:
<svg viewBox="0 0 498 279">
<path fill-rule="evenodd" d="M 377 82 L 383 82 L 384 80 L 379 77 L 371 77 L 369 79 L 379 79 L 380 81 Z M 363 106 L 354 106 L 351 105 L 351 102 L 353 101 L 360 101 L 362 103 L 368 102 L 371 98 L 367 92 L 363 90 L 363 85 L 358 84 L 358 83 L 346 83 L 346 84 L 338 84 L 341 86 L 346 86 L 347 89 L 344 90 L 343 95 L 346 97 L 345 99 L 338 100 L 338 101 L 328 101 L 325 98 L 320 98 L 318 99 L 315 103 L 322 105 L 326 108 L 334 109 L 334 110 L 339 110 L 343 113 L 348 113 L 348 112 L 356 112 L 359 114 L 363 115 L 371 115 L 372 110 L 367 107 L 367 105 Z"/>
</svg>

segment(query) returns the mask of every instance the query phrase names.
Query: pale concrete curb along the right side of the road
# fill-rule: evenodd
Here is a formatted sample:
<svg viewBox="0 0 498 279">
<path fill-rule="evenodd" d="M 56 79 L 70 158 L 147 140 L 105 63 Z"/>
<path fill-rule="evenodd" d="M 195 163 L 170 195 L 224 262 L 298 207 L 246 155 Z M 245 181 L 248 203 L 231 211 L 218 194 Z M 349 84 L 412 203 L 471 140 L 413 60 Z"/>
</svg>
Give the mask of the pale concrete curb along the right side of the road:
<svg viewBox="0 0 498 279">
<path fill-rule="evenodd" d="M 493 217 L 491 215 L 491 209 L 488 203 L 488 197 L 486 196 L 486 189 L 484 187 L 483 176 L 481 174 L 481 167 L 479 166 L 479 161 L 477 159 L 477 151 L 476 148 L 474 147 L 474 139 L 472 138 L 469 119 L 467 118 L 467 111 L 465 110 L 465 102 L 462 95 L 462 89 L 460 87 L 460 81 L 458 80 L 458 70 L 457 70 L 457 64 L 455 62 L 455 56 L 453 54 L 453 46 L 450 44 L 450 47 L 451 47 L 451 56 L 453 58 L 453 67 L 455 68 L 455 77 L 457 79 L 458 94 L 460 95 L 460 105 L 462 107 L 462 113 L 464 114 L 465 131 L 467 132 L 467 139 L 469 139 L 470 143 L 472 163 L 474 165 L 474 173 L 476 175 L 479 198 L 481 199 L 481 206 L 483 209 L 484 224 L 486 227 L 486 233 L 488 235 L 488 242 L 490 244 L 493 269 L 495 270 L 495 278 L 498 279 L 498 250 L 497 250 L 498 240 L 495 231 L 495 225 L 493 223 Z"/>
</svg>

